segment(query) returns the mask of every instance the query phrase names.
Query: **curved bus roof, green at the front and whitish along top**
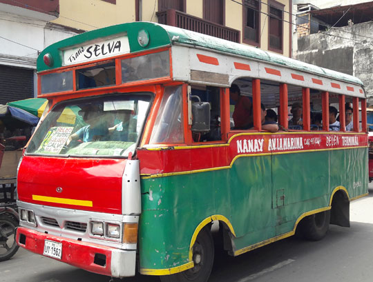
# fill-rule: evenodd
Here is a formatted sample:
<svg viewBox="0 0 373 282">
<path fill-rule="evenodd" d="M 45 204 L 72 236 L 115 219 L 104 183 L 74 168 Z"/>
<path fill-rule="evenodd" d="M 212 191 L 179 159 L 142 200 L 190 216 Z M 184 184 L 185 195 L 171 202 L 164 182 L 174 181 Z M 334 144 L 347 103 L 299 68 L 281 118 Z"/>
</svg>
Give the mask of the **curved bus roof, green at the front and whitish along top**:
<svg viewBox="0 0 373 282">
<path fill-rule="evenodd" d="M 140 32 L 140 30 L 145 30 L 149 34 L 149 44 L 145 47 L 140 46 L 137 41 L 137 34 Z M 39 55 L 37 59 L 37 71 L 41 72 L 44 70 L 52 70 L 64 66 L 62 58 L 63 50 L 72 48 L 73 46 L 79 46 L 79 44 L 86 42 L 94 43 L 99 39 L 104 39 L 106 37 L 114 38 L 115 36 L 125 34 L 128 37 L 128 45 L 131 53 L 160 48 L 162 46 L 182 44 L 184 46 L 190 46 L 191 48 L 204 48 L 211 51 L 215 50 L 224 54 L 245 57 L 248 59 L 254 59 L 256 61 L 265 61 L 267 63 L 283 66 L 293 70 L 299 70 L 301 72 L 318 74 L 330 79 L 354 83 L 356 85 L 363 85 L 360 79 L 349 74 L 321 68 L 309 63 L 290 59 L 280 54 L 267 52 L 244 44 L 234 43 L 224 39 L 219 39 L 217 37 L 200 34 L 198 32 L 151 22 L 122 23 L 117 26 L 109 26 L 107 28 L 100 28 L 90 32 L 84 32 L 83 34 L 78 34 L 74 37 L 54 43 L 51 46 L 48 46 Z M 48 67 L 44 63 L 44 54 L 47 53 L 49 53 L 54 60 L 52 67 Z"/>
</svg>

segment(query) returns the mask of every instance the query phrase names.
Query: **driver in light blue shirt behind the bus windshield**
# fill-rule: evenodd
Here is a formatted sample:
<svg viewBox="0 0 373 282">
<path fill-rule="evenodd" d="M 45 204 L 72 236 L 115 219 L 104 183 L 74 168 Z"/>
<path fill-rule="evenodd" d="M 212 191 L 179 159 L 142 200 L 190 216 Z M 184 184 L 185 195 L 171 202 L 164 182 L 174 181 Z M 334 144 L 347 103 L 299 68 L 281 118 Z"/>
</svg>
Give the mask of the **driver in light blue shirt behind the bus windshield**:
<svg viewBox="0 0 373 282">
<path fill-rule="evenodd" d="M 82 140 L 83 142 L 99 141 L 109 132 L 105 119 L 102 119 L 102 109 L 99 105 L 86 105 L 79 110 L 79 115 L 82 116 L 85 123 L 88 125 L 80 128 L 74 134 L 68 137 L 66 145 L 69 145 L 73 140 Z"/>
</svg>

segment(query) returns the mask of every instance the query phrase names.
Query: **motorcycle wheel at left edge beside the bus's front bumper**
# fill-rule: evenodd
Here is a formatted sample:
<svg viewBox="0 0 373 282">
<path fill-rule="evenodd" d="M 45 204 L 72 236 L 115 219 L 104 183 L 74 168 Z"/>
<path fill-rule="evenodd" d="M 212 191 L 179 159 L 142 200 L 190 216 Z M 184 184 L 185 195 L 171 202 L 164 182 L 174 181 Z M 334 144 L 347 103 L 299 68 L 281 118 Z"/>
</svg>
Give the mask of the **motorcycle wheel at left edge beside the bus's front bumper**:
<svg viewBox="0 0 373 282">
<path fill-rule="evenodd" d="M 0 261 L 10 259 L 18 250 L 15 240 L 17 221 L 10 216 L 0 215 Z"/>
</svg>

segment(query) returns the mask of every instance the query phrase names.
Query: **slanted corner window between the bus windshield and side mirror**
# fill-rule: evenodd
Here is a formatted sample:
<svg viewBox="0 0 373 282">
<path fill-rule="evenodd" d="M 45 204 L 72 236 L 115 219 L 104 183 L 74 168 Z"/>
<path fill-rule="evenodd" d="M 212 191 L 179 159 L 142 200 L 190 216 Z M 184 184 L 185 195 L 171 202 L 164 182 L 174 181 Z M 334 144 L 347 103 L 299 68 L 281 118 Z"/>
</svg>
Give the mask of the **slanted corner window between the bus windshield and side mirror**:
<svg viewBox="0 0 373 282">
<path fill-rule="evenodd" d="M 150 143 L 183 143 L 182 86 L 164 88 Z"/>
</svg>

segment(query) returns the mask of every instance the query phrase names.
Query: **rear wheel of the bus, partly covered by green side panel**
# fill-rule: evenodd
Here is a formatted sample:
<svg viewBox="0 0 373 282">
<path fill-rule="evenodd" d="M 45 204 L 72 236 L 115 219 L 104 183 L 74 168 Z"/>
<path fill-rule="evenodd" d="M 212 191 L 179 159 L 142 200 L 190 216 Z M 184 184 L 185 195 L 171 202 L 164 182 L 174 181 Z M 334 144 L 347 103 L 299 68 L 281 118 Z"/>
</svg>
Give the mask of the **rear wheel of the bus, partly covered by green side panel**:
<svg viewBox="0 0 373 282">
<path fill-rule="evenodd" d="M 329 222 L 330 210 L 312 214 L 300 221 L 300 232 L 307 240 L 319 241 L 327 234 L 327 231 L 329 230 Z"/>
</svg>

